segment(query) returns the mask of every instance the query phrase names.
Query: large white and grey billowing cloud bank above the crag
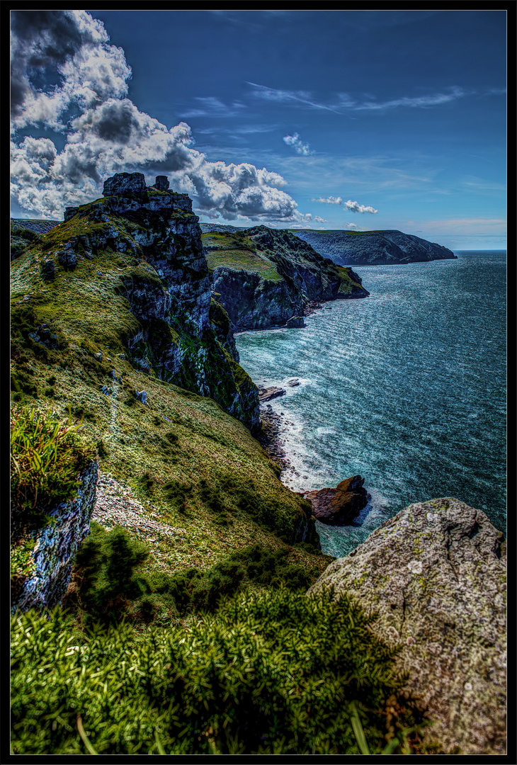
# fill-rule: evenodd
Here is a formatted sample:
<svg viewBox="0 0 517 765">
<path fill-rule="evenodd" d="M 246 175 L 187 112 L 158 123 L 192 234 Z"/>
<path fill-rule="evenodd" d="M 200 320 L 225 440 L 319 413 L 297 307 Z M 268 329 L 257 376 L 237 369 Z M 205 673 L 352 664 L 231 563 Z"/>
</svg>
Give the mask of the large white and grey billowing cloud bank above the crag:
<svg viewBox="0 0 517 765">
<path fill-rule="evenodd" d="M 11 194 L 26 213 L 60 219 L 64 207 L 100 197 L 106 177 L 140 171 L 148 182 L 168 175 L 209 218 L 323 220 L 298 210 L 280 174 L 210 161 L 193 148 L 186 122 L 167 129 L 139 111 L 127 97 L 124 51 L 86 11 L 12 11 L 11 43 Z M 224 107 L 213 97 L 199 100 L 205 109 Z M 28 125 L 63 132 L 62 150 L 50 138 L 19 135 Z"/>
</svg>

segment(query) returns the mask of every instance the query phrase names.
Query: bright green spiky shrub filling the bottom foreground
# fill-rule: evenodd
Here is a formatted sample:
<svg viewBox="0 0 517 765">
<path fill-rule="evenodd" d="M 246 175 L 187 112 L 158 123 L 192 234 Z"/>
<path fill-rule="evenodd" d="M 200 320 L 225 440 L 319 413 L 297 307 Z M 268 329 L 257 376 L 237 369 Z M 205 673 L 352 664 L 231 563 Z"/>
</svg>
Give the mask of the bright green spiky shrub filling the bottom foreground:
<svg viewBox="0 0 517 765">
<path fill-rule="evenodd" d="M 424 721 L 371 623 L 346 596 L 285 588 L 140 634 L 93 625 L 78 639 L 60 609 L 18 614 L 12 752 L 381 754 L 388 741 L 424 754 Z"/>
</svg>

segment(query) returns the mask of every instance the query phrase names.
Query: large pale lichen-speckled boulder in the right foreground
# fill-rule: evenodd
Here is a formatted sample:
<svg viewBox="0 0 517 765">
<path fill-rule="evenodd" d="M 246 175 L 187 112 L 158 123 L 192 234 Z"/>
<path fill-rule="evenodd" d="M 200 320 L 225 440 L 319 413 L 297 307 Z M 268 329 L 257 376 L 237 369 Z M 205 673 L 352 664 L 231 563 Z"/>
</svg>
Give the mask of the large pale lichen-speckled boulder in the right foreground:
<svg viewBox="0 0 517 765">
<path fill-rule="evenodd" d="M 402 644 L 406 687 L 446 754 L 506 752 L 506 543 L 481 510 L 454 499 L 410 505 L 309 590 L 333 587 L 379 613 Z"/>
</svg>

